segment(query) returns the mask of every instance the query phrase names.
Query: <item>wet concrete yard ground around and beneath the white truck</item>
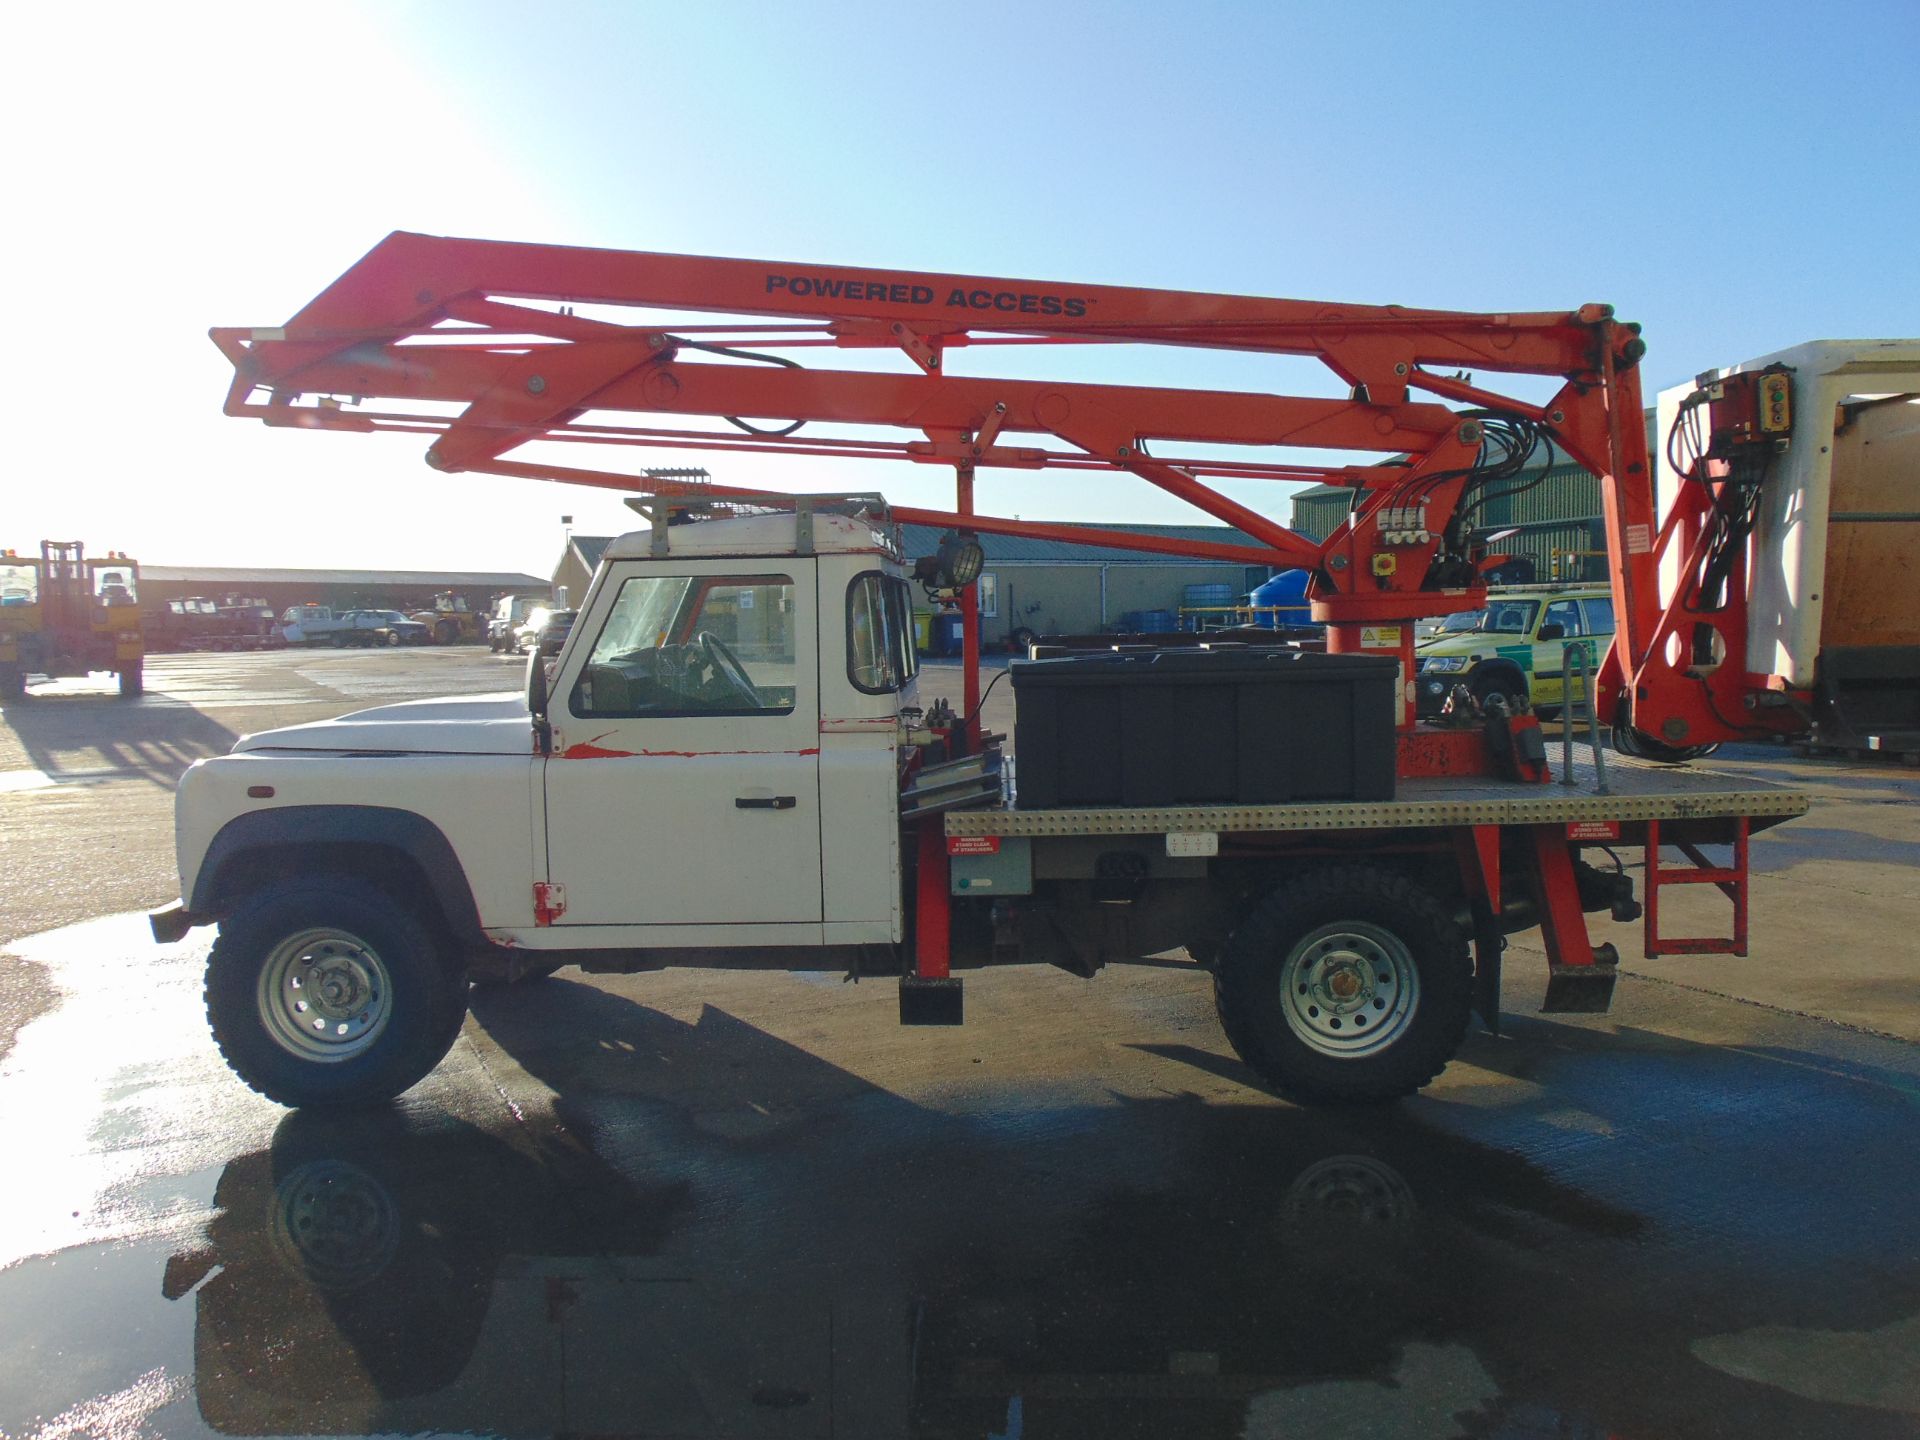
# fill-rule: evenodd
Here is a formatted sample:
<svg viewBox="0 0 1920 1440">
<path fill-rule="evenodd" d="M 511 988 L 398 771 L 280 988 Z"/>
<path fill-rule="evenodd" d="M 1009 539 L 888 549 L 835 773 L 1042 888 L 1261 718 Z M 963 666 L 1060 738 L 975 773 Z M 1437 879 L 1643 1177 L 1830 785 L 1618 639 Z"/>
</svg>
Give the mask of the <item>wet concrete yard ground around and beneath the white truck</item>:
<svg viewBox="0 0 1920 1440">
<path fill-rule="evenodd" d="M 1753 956 L 1544 1018 L 1515 937 L 1505 1033 L 1379 1114 L 1265 1094 L 1167 968 L 981 972 L 952 1031 L 839 975 L 566 972 L 476 993 L 392 1112 L 259 1100 L 205 935 L 136 914 L 175 778 L 518 674 L 157 657 L 140 703 L 6 710 L 0 1436 L 1920 1427 L 1914 772 L 1718 760 L 1816 797 L 1755 841 Z"/>
</svg>

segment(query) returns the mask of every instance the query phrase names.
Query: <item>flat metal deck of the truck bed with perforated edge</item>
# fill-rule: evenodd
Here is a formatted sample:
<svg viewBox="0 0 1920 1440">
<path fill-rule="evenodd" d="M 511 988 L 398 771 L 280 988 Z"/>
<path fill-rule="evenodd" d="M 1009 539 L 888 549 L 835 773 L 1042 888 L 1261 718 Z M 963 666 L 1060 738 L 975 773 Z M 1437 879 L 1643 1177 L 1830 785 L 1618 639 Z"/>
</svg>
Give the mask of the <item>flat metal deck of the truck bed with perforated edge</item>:
<svg viewBox="0 0 1920 1440">
<path fill-rule="evenodd" d="M 1060 810 L 950 810 L 948 835 L 1156 835 L 1181 829 L 1308 831 L 1427 829 L 1436 826 L 1553 826 L 1574 820 L 1789 820 L 1807 814 L 1805 791 L 1697 766 L 1607 756 L 1607 795 L 1592 762 L 1574 760 L 1574 783 L 1511 780 L 1404 780 L 1392 801 L 1304 804 L 1167 804 Z"/>
</svg>

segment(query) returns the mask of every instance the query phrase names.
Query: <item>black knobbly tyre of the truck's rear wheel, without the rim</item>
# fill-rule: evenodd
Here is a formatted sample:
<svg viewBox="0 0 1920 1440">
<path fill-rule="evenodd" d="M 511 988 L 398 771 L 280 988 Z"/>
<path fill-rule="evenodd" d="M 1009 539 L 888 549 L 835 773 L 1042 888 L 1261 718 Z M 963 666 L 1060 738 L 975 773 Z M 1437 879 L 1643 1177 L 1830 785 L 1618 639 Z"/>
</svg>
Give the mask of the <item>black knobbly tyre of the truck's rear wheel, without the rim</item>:
<svg viewBox="0 0 1920 1440">
<path fill-rule="evenodd" d="M 1309 937 L 1340 924 L 1365 935 L 1398 941 L 1388 970 L 1413 970 L 1413 985 L 1382 987 L 1388 1000 L 1371 1004 L 1363 1020 L 1390 1033 L 1382 1048 L 1365 1054 L 1327 1054 L 1304 1039 L 1309 1023 L 1288 1018 L 1283 975 L 1296 948 L 1311 952 Z M 1369 966 L 1371 970 L 1371 966 Z M 1411 989 L 1402 1014 L 1400 996 Z M 1306 991 L 1300 991 L 1306 995 Z M 1467 935 L 1440 899 L 1405 876 L 1373 864 L 1332 864 L 1288 877 L 1260 900 L 1227 937 L 1213 968 L 1213 1004 L 1221 1029 L 1238 1056 L 1288 1100 L 1302 1104 L 1380 1104 L 1413 1094 L 1438 1075 L 1459 1050 L 1473 1010 L 1473 962 Z M 1302 1000 L 1304 1008 L 1306 1002 Z M 1352 1021 L 1348 1021 L 1352 1025 Z M 1388 1025 L 1382 1031 L 1379 1025 Z M 1361 1029 L 1329 1037 L 1321 1046 L 1365 1043 Z"/>
</svg>

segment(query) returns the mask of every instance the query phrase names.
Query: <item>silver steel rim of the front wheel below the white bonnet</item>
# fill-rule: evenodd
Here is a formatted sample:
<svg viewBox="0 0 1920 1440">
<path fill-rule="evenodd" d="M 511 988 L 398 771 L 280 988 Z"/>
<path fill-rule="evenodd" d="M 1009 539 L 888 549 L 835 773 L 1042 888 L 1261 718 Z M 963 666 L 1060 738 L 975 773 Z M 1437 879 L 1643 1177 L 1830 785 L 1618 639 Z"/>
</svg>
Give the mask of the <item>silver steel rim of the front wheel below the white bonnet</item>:
<svg viewBox="0 0 1920 1440">
<path fill-rule="evenodd" d="M 372 1048 L 394 985 L 372 947 L 344 929 L 303 929 L 267 956 L 255 993 L 261 1025 L 292 1056 L 323 1066 Z"/>
</svg>

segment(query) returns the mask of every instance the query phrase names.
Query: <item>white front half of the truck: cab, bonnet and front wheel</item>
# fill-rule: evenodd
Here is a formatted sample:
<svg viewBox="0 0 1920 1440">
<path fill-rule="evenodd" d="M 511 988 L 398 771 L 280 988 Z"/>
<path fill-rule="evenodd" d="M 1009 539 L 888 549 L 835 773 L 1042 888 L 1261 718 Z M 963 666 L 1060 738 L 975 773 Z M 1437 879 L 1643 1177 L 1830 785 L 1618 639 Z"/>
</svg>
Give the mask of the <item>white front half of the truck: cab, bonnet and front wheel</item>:
<svg viewBox="0 0 1920 1440">
<path fill-rule="evenodd" d="M 182 899 L 154 933 L 219 924 L 228 1064 L 284 1104 L 369 1104 L 451 1048 L 474 979 L 900 943 L 895 534 L 862 511 L 662 516 L 609 545 L 526 695 L 384 705 L 192 766 Z"/>
</svg>

